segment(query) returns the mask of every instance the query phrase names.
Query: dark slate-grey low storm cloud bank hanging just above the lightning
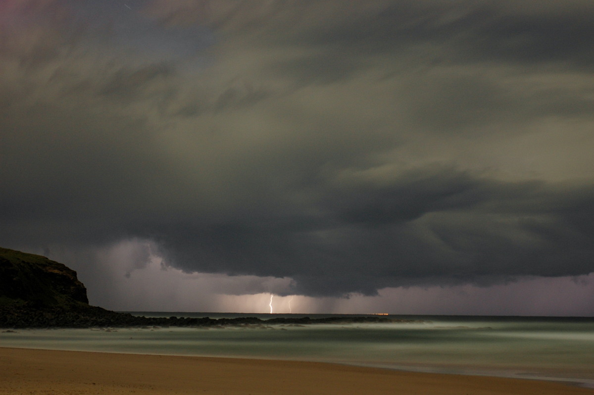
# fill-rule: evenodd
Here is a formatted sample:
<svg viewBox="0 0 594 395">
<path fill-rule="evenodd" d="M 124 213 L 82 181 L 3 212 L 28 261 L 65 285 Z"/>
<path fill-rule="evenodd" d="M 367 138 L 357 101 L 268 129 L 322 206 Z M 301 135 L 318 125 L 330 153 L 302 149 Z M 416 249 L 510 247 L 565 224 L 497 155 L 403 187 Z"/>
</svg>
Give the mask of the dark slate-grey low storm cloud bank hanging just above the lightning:
<svg viewBox="0 0 594 395">
<path fill-rule="evenodd" d="M 327 191 L 315 218 L 185 228 L 172 250 L 189 255 L 173 260 L 204 257 L 195 270 L 292 277 L 287 293 L 310 295 L 589 273 L 594 229 L 575 211 L 592 210 L 593 192 L 416 169 L 386 188 Z"/>
</svg>

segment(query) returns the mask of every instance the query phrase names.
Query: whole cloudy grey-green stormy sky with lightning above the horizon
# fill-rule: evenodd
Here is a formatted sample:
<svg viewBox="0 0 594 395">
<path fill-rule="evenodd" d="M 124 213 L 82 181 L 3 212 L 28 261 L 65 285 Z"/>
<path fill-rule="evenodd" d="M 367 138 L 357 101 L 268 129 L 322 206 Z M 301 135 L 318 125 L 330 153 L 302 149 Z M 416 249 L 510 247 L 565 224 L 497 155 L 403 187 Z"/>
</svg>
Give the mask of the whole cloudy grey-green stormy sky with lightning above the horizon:
<svg viewBox="0 0 594 395">
<path fill-rule="evenodd" d="M 2 0 L 0 245 L 114 309 L 594 315 L 593 16 Z"/>
</svg>

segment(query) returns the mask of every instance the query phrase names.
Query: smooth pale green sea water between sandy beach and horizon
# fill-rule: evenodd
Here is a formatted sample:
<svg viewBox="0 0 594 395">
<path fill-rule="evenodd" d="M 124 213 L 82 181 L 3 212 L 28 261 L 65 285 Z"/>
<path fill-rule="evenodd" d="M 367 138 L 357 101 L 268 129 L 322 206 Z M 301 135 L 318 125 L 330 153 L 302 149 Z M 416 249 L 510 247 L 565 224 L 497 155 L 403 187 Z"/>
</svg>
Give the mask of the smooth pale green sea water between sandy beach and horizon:
<svg viewBox="0 0 594 395">
<path fill-rule="evenodd" d="M 304 314 L 136 312 L 146 317 Z M 311 318 L 337 315 L 308 315 Z M 341 317 L 349 317 L 340 315 Z M 259 324 L 3 331 L 0 346 L 333 362 L 594 386 L 594 319 L 390 315 L 393 323 Z"/>
</svg>

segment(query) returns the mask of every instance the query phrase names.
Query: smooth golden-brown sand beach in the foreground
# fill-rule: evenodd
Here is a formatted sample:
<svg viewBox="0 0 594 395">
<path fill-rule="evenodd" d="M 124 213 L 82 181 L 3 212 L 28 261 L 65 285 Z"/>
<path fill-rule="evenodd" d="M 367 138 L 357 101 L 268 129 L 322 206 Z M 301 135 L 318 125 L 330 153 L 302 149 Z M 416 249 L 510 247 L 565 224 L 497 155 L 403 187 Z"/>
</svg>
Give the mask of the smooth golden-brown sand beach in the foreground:
<svg viewBox="0 0 594 395">
<path fill-rule="evenodd" d="M 335 364 L 0 347 L 0 394 L 588 394 L 545 381 Z"/>
</svg>

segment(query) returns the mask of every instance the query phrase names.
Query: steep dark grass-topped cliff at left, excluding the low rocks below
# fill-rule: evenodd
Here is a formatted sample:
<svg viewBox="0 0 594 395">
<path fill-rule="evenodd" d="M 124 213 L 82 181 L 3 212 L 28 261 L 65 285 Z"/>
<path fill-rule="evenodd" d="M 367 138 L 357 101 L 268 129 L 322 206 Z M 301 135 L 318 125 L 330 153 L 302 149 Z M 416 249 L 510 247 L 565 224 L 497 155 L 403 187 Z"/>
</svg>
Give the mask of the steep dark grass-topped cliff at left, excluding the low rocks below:
<svg viewBox="0 0 594 395">
<path fill-rule="evenodd" d="M 0 248 L 0 305 L 74 308 L 89 304 L 76 272 L 41 255 Z"/>
</svg>

